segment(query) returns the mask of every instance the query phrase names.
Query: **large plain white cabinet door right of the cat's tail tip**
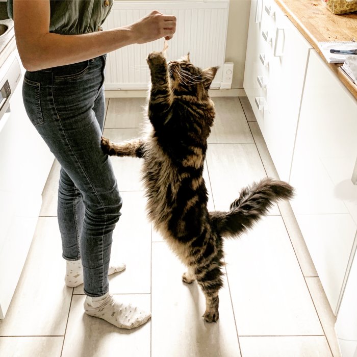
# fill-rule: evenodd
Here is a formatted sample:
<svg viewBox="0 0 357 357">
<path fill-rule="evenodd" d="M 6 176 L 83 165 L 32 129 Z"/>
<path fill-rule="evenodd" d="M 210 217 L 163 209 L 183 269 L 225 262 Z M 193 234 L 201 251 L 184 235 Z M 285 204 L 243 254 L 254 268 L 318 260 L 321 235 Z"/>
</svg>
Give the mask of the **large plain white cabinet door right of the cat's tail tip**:
<svg viewBox="0 0 357 357">
<path fill-rule="evenodd" d="M 357 101 L 310 50 L 290 184 L 292 208 L 331 308 L 338 311 L 353 253 Z M 353 254 L 352 254 L 353 256 Z"/>
</svg>

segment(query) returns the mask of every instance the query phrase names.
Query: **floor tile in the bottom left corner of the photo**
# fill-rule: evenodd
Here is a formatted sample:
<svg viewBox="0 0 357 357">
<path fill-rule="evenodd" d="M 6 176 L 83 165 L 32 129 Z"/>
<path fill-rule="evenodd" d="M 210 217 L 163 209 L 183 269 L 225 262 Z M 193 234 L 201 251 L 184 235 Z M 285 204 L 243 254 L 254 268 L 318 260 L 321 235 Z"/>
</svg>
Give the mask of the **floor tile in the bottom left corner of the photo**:
<svg viewBox="0 0 357 357">
<path fill-rule="evenodd" d="M 60 357 L 63 337 L 0 337 L 4 357 Z"/>
</svg>

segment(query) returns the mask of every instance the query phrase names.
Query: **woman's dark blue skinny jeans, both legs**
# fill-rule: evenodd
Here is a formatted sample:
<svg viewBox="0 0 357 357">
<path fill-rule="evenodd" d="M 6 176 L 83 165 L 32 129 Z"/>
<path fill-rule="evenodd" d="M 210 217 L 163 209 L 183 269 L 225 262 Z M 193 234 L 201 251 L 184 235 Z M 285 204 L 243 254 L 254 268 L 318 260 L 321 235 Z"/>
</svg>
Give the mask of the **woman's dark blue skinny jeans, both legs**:
<svg viewBox="0 0 357 357">
<path fill-rule="evenodd" d="M 82 258 L 86 295 L 109 291 L 108 269 L 122 200 L 109 157 L 100 148 L 104 126 L 106 56 L 29 72 L 23 103 L 61 165 L 58 223 L 63 258 Z"/>
</svg>

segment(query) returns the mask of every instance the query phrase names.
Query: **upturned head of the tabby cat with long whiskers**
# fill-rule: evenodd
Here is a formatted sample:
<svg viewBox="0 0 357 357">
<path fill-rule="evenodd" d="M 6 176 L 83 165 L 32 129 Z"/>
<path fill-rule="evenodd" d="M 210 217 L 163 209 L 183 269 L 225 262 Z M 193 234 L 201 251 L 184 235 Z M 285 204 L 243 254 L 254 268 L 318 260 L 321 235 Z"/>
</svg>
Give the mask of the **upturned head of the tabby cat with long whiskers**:
<svg viewBox="0 0 357 357">
<path fill-rule="evenodd" d="M 208 96 L 208 90 L 219 67 L 201 69 L 190 62 L 190 54 L 177 61 L 168 63 L 171 87 L 176 93 Z"/>
</svg>

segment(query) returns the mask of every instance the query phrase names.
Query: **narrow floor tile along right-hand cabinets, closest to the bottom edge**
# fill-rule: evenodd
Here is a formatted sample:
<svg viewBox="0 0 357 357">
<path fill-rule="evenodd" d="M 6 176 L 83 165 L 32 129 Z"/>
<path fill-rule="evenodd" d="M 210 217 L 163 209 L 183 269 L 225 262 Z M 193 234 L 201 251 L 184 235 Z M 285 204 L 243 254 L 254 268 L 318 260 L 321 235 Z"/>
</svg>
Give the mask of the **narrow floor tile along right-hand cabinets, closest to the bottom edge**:
<svg viewBox="0 0 357 357">
<path fill-rule="evenodd" d="M 305 279 L 331 351 L 333 352 L 334 357 L 341 357 L 335 330 L 336 317 L 331 310 L 320 279 L 318 277 L 307 277 Z"/>
</svg>

